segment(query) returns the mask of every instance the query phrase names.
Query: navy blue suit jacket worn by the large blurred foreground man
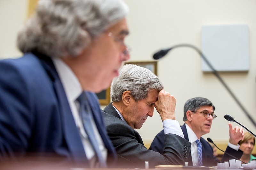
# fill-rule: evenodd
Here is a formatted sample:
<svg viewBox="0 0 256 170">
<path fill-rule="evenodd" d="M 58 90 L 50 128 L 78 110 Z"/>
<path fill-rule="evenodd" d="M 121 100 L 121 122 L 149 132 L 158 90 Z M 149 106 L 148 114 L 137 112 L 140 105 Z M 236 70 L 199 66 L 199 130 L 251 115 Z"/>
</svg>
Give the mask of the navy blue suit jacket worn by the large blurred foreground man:
<svg viewBox="0 0 256 170">
<path fill-rule="evenodd" d="M 116 158 L 98 99 L 86 95 L 108 155 Z M 0 160 L 18 153 L 53 153 L 88 165 L 60 78 L 51 58 L 41 54 L 0 61 Z"/>
</svg>

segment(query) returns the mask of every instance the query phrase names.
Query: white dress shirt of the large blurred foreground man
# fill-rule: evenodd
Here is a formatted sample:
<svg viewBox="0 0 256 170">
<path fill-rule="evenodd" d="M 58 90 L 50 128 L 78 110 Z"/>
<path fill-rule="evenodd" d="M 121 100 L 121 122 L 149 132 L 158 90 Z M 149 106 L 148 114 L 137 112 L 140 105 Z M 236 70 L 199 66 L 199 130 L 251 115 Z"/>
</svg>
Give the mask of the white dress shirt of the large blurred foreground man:
<svg viewBox="0 0 256 170">
<path fill-rule="evenodd" d="M 88 139 L 87 134 L 84 131 L 84 126 L 82 123 L 81 116 L 79 114 L 79 102 L 77 102 L 77 98 L 82 93 L 82 87 L 76 77 L 76 75 L 73 73 L 73 71 L 68 67 L 66 63 L 64 63 L 59 58 L 52 58 L 52 61 L 54 63 L 54 66 L 56 67 L 56 70 L 58 72 L 58 75 L 60 77 L 61 83 L 64 87 L 68 103 L 71 109 L 71 112 L 73 114 L 73 118 L 76 123 L 76 127 L 79 130 L 80 137 L 84 146 L 84 151 L 86 154 L 87 159 L 90 161 L 91 166 L 95 165 L 95 152 L 93 150 L 93 147 Z M 97 139 L 97 142 L 99 144 L 100 152 L 102 153 L 102 156 L 104 160 L 107 160 L 107 149 L 102 141 L 102 138 L 100 136 L 100 133 L 96 127 L 95 122 L 92 122 L 93 131 L 95 134 L 95 137 Z"/>
</svg>

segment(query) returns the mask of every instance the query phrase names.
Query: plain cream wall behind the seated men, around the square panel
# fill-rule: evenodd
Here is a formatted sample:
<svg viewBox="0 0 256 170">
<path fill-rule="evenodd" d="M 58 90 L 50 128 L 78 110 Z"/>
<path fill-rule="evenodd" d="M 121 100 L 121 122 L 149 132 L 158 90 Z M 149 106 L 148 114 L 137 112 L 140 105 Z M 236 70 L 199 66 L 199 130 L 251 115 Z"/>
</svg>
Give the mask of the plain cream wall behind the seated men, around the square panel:
<svg viewBox="0 0 256 170">
<path fill-rule="evenodd" d="M 127 18 L 130 35 L 127 44 L 133 47 L 130 61 L 150 61 L 154 52 L 179 43 L 201 47 L 202 25 L 246 24 L 250 32 L 250 70 L 248 73 L 221 73 L 222 78 L 255 119 L 256 104 L 256 1 L 255 0 L 124 0 L 130 7 Z M 0 57 L 20 55 L 15 48 L 15 36 L 27 15 L 27 0 L 0 1 Z M 207 56 L 206 56 L 207 57 Z M 190 48 L 177 48 L 158 61 L 158 76 L 165 90 L 177 99 L 176 120 L 183 124 L 183 106 L 193 97 L 205 97 L 213 102 L 218 116 L 212 124 L 211 137 L 215 143 L 228 141 L 228 122 L 225 114 L 245 125 L 252 132 L 256 128 L 229 93 L 211 73 L 201 71 L 199 55 Z M 104 106 L 102 106 L 104 107 Z M 255 119 L 256 120 L 256 119 Z M 232 123 L 236 126 L 236 123 Z M 163 129 L 155 112 L 139 133 L 143 141 L 151 143 Z"/>
</svg>

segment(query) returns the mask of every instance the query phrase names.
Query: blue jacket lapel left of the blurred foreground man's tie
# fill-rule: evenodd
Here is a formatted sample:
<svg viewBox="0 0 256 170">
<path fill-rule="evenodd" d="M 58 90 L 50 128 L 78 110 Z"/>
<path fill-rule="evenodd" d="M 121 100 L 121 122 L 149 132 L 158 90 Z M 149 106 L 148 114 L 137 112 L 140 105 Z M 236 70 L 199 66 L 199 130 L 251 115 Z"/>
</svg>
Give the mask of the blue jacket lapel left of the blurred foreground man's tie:
<svg viewBox="0 0 256 170">
<path fill-rule="evenodd" d="M 66 93 L 58 76 L 58 73 L 52 63 L 52 60 L 49 57 L 42 57 L 42 55 L 37 54 L 37 56 L 38 55 L 41 63 L 43 64 L 45 70 L 47 71 L 53 82 L 54 90 L 56 92 L 56 96 L 59 102 L 59 114 L 62 118 L 62 129 L 68 150 L 76 161 L 83 161 L 86 163 L 87 159 L 85 159 L 86 155 L 84 152 L 81 137 L 76 127 L 76 123 L 70 110 Z"/>
</svg>

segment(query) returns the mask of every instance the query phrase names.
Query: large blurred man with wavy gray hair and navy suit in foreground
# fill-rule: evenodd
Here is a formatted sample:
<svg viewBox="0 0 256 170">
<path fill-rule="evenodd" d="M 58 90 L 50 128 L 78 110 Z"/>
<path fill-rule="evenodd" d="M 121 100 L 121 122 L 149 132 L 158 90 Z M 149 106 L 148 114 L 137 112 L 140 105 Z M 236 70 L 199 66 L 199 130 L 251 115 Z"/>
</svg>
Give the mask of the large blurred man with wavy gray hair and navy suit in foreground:
<svg viewBox="0 0 256 170">
<path fill-rule="evenodd" d="M 98 98 L 129 59 L 122 0 L 40 0 L 0 61 L 0 160 L 47 156 L 107 167 L 116 152 Z M 38 159 L 37 159 L 38 158 Z"/>
</svg>

